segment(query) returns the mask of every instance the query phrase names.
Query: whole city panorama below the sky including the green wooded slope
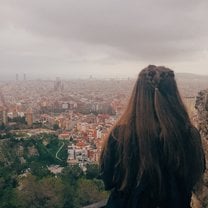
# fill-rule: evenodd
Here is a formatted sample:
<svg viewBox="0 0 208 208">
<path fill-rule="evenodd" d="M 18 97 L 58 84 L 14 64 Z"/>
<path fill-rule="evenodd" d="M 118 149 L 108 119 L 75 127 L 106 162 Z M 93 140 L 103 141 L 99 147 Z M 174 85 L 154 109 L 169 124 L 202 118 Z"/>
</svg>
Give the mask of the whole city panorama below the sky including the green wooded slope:
<svg viewBox="0 0 208 208">
<path fill-rule="evenodd" d="M 99 156 L 134 82 L 29 80 L 26 74 L 1 81 L 0 207 L 82 207 L 106 199 L 97 180 Z M 195 121 L 195 100 L 208 88 L 207 77 L 179 74 L 177 82 Z"/>
</svg>

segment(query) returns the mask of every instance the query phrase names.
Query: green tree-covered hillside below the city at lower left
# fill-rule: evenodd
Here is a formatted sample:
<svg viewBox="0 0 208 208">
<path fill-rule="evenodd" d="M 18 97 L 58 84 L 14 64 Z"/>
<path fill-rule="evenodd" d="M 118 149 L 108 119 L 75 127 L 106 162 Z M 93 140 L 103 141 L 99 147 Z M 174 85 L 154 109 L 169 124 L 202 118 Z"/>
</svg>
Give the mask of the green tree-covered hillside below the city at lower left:
<svg viewBox="0 0 208 208">
<path fill-rule="evenodd" d="M 67 166 L 67 142 L 55 135 L 29 139 L 0 140 L 0 208 L 82 207 L 107 198 L 97 180 L 98 166 L 89 165 L 86 174 L 79 166 Z M 59 165 L 54 175 L 48 166 Z"/>
</svg>

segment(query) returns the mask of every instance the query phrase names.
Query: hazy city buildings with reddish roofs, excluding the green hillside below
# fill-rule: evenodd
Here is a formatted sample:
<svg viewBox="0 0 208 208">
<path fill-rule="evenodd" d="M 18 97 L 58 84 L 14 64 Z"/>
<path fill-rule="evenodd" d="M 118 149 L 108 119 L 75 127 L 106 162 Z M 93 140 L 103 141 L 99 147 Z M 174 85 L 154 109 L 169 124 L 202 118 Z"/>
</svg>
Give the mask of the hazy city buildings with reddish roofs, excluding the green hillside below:
<svg viewBox="0 0 208 208">
<path fill-rule="evenodd" d="M 183 75 L 178 82 L 189 108 L 206 81 L 190 82 Z M 0 125 L 25 138 L 54 133 L 68 141 L 68 164 L 98 162 L 104 138 L 124 110 L 133 79 L 15 80 L 0 88 Z M 180 84 L 181 83 L 181 84 Z M 191 101 L 191 102 L 190 102 Z M 83 166 L 84 167 L 84 166 Z"/>
</svg>

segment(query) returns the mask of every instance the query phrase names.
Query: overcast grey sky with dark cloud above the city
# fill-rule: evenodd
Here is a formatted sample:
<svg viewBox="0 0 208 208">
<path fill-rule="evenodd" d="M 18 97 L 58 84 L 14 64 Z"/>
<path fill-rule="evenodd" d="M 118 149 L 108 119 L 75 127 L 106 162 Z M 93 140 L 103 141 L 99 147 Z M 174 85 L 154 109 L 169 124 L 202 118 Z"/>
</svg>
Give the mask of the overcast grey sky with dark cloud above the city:
<svg viewBox="0 0 208 208">
<path fill-rule="evenodd" d="M 207 0 L 0 0 L 0 75 L 208 74 Z"/>
</svg>

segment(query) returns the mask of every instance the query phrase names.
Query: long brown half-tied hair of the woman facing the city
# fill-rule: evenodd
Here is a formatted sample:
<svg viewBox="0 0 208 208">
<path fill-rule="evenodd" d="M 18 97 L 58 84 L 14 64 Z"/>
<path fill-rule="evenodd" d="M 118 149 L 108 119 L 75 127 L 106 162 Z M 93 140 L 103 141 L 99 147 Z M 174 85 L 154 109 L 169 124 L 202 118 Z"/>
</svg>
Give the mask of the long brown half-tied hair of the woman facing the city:
<svg viewBox="0 0 208 208">
<path fill-rule="evenodd" d="M 174 72 L 166 67 L 149 65 L 140 72 L 129 104 L 110 135 L 118 142 L 115 168 L 119 174 L 114 180 L 120 181 L 120 190 L 138 182 L 144 173 L 159 189 L 161 155 L 168 169 L 191 188 L 203 173 L 203 150 L 200 138 L 195 139 L 200 136 L 182 102 Z"/>
</svg>

